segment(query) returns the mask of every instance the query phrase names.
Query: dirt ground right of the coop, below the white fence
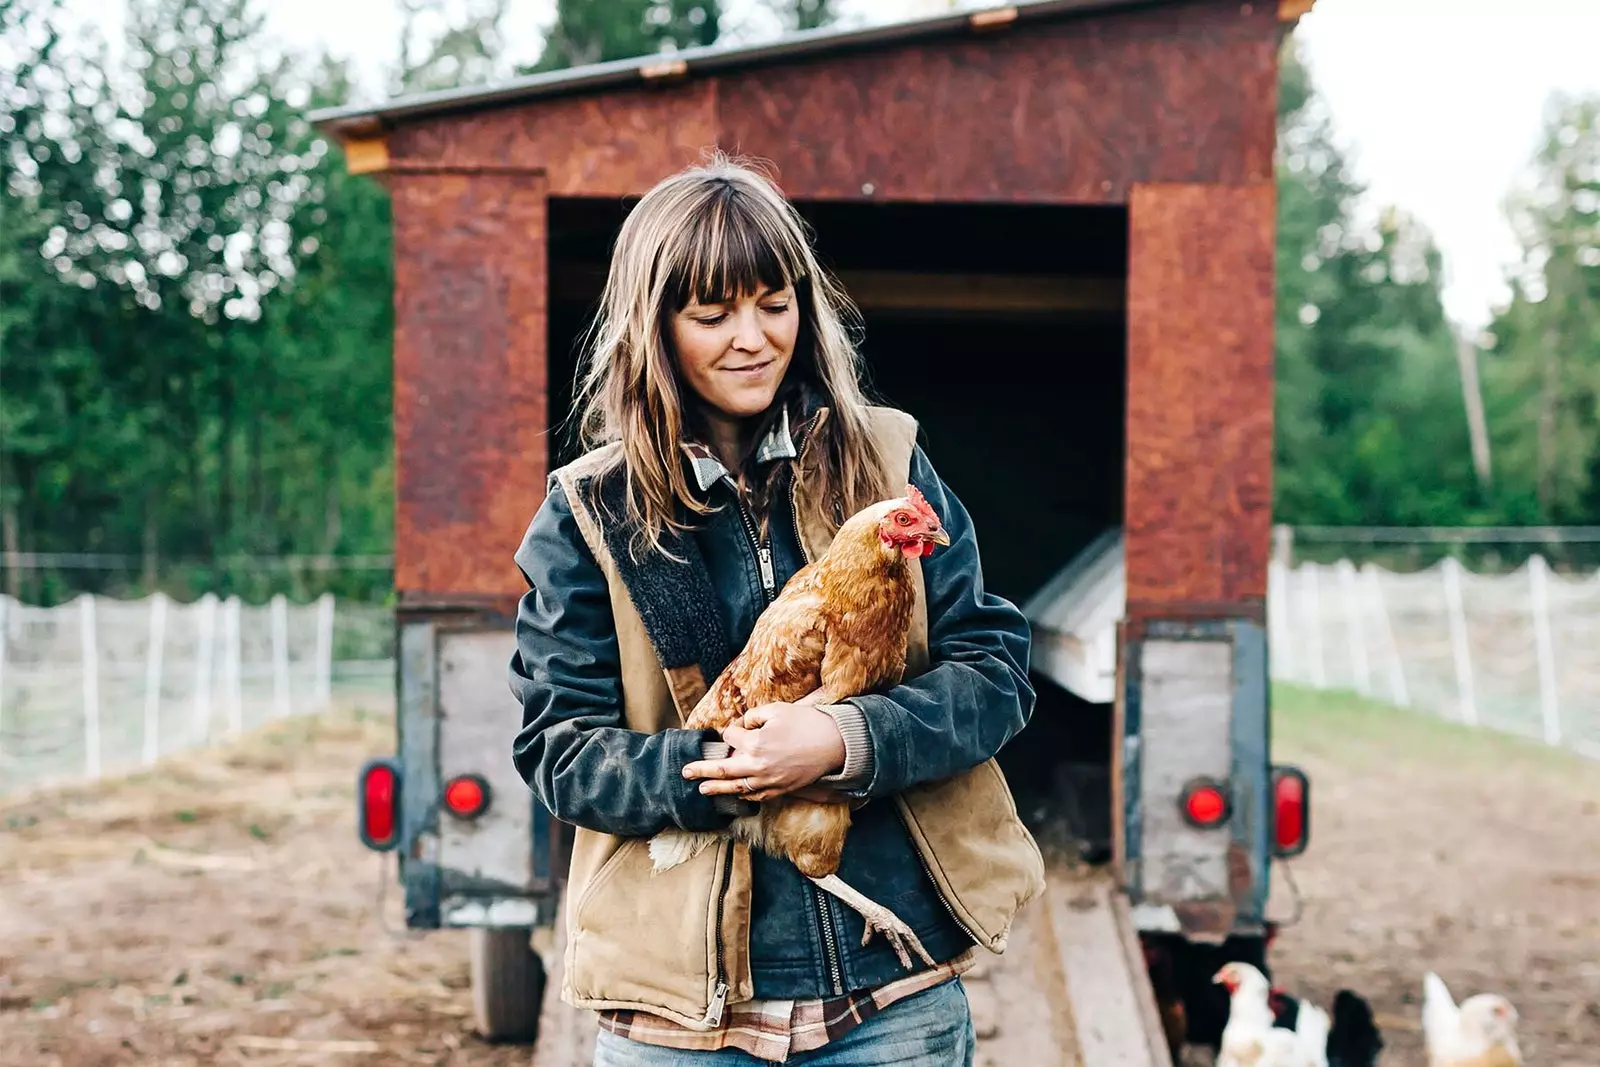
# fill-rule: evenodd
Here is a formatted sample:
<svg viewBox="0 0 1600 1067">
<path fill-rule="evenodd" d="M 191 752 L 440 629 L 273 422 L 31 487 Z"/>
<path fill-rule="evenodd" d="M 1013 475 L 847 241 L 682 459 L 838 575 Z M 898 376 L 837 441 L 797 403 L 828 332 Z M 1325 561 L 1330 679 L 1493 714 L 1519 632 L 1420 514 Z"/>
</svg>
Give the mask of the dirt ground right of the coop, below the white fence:
<svg viewBox="0 0 1600 1067">
<path fill-rule="evenodd" d="M 1528 1064 L 1600 1064 L 1600 765 L 1394 709 L 1280 693 L 1274 758 L 1312 779 L 1290 992 L 1371 1000 L 1384 1064 L 1422 1067 L 1424 971 L 1498 992 Z M 1274 915 L 1293 912 L 1280 881 Z"/>
</svg>

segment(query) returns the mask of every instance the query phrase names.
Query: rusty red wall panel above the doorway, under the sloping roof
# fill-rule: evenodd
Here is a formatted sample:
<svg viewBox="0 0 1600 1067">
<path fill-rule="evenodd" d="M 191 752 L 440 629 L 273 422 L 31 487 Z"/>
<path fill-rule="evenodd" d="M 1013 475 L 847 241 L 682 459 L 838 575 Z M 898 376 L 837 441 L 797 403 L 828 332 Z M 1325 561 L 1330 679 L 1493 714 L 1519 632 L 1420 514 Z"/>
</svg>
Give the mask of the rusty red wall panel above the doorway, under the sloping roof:
<svg viewBox="0 0 1600 1067">
<path fill-rule="evenodd" d="M 1272 176 L 1275 3 L 1029 22 L 438 117 L 390 155 L 538 168 L 550 195 L 627 195 L 702 149 L 776 163 L 795 198 L 1125 203 L 1136 182 Z"/>
</svg>

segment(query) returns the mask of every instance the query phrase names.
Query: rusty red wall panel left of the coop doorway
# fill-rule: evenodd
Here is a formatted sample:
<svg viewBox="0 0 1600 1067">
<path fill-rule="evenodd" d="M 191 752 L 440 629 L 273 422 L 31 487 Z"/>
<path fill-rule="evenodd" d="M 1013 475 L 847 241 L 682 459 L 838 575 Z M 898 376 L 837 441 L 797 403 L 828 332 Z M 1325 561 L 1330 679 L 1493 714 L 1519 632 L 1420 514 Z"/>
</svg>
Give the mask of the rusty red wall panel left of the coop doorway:
<svg viewBox="0 0 1600 1067">
<path fill-rule="evenodd" d="M 395 589 L 520 593 L 547 474 L 546 182 L 408 173 L 390 192 Z"/>
</svg>

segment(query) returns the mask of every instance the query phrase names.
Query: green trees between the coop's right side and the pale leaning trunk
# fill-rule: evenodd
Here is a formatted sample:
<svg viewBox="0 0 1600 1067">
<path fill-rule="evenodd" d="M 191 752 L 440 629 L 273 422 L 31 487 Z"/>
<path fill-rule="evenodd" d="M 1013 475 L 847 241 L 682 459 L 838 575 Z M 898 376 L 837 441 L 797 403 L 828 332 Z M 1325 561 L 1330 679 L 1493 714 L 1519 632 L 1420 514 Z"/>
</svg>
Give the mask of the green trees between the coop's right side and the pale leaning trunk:
<svg viewBox="0 0 1600 1067">
<path fill-rule="evenodd" d="M 1363 189 L 1288 45 L 1278 158 L 1277 502 L 1286 523 L 1483 514 L 1429 234 L 1358 216 Z"/>
</svg>

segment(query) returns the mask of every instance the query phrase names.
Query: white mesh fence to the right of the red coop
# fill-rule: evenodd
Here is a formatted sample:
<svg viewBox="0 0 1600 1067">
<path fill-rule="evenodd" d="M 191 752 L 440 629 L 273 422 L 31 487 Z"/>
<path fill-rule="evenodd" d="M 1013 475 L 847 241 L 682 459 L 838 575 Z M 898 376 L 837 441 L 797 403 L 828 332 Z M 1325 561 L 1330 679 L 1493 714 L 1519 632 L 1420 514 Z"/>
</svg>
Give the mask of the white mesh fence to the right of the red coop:
<svg viewBox="0 0 1600 1067">
<path fill-rule="evenodd" d="M 1272 677 L 1600 758 L 1600 571 L 1272 565 Z"/>
</svg>

